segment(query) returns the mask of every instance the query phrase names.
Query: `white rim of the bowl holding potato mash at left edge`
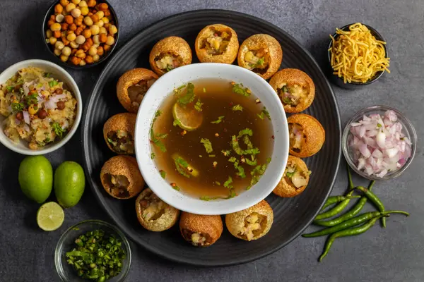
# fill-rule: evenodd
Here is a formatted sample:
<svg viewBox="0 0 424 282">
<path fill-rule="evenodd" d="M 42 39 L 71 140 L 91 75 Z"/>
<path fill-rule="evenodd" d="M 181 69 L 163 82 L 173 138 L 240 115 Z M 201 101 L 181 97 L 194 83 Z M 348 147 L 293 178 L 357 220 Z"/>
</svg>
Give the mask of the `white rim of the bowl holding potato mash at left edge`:
<svg viewBox="0 0 424 282">
<path fill-rule="evenodd" d="M 6 68 L 4 71 L 2 71 L 0 73 L 0 84 L 6 82 L 6 80 L 8 80 L 10 77 L 6 78 L 6 80 L 4 80 L 3 76 L 6 75 L 6 73 L 11 72 L 13 70 L 18 71 L 20 68 L 26 68 L 29 66 L 33 66 L 35 64 L 38 65 L 45 65 L 45 66 L 49 66 L 51 68 L 54 68 L 55 70 L 57 70 L 58 73 L 60 73 L 61 75 L 64 75 L 66 77 L 66 80 L 68 81 L 64 81 L 66 82 L 66 84 L 69 87 L 73 88 L 73 97 L 76 98 L 76 102 L 77 102 L 77 110 L 76 110 L 76 117 L 75 117 L 75 121 L 73 122 L 72 128 L 71 130 L 69 130 L 69 133 L 67 133 L 65 135 L 65 137 L 61 140 L 59 140 L 58 142 L 54 142 L 52 145 L 47 145 L 44 147 L 44 149 L 38 149 L 38 150 L 33 150 L 30 148 L 20 148 L 17 147 L 15 143 L 13 143 L 3 132 L 3 128 L 1 128 L 0 130 L 0 142 L 1 144 L 3 144 L 5 147 L 7 147 L 8 149 L 11 149 L 14 152 L 17 152 L 19 154 L 25 154 L 28 156 L 36 156 L 36 155 L 40 155 L 40 154 L 48 154 L 50 152 L 56 151 L 57 149 L 59 149 L 60 147 L 64 146 L 66 144 L 66 142 L 68 142 L 69 140 L 71 140 L 71 137 L 76 133 L 76 130 L 78 129 L 78 125 L 81 122 L 81 117 L 83 114 L 83 100 L 81 98 L 81 92 L 79 91 L 78 85 L 76 84 L 75 80 L 73 80 L 73 78 L 71 77 L 71 75 L 61 66 L 57 65 L 56 63 L 52 63 L 50 61 L 45 61 L 45 60 L 40 60 L 40 59 L 29 59 L 29 60 L 25 60 L 25 61 L 20 61 L 18 63 L 14 63 L 12 66 L 9 66 L 8 68 Z"/>
</svg>

